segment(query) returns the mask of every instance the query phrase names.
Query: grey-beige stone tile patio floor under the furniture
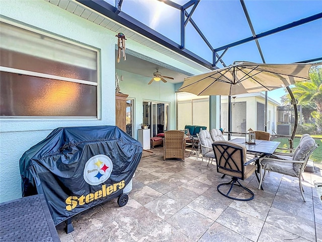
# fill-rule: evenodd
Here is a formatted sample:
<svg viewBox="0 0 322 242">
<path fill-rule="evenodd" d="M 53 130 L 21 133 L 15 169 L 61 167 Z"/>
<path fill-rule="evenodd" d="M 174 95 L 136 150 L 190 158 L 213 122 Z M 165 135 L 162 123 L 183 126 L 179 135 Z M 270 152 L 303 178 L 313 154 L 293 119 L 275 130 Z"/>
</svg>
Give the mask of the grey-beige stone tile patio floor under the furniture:
<svg viewBox="0 0 322 242">
<path fill-rule="evenodd" d="M 163 160 L 163 148 L 142 158 L 124 207 L 117 199 L 73 218 L 74 231 L 64 241 L 322 241 L 322 202 L 313 181 L 322 181 L 322 166 L 304 173 L 303 202 L 298 179 L 268 172 L 264 191 L 253 175 L 243 183 L 255 193 L 248 202 L 217 192 L 221 179 L 215 165 L 196 160 Z M 315 166 L 317 166 L 315 164 Z M 321 169 L 319 169 L 321 168 Z M 243 193 L 238 196 L 243 197 Z"/>
</svg>

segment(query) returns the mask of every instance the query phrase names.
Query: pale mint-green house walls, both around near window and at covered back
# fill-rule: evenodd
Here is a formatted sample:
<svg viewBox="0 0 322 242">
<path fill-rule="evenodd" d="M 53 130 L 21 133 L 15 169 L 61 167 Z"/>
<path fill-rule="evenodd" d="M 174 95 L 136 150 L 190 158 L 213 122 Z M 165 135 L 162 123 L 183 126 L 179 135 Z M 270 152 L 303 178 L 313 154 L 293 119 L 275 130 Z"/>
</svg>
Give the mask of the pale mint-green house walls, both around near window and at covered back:
<svg viewBox="0 0 322 242">
<path fill-rule="evenodd" d="M 33 145 L 44 139 L 58 127 L 115 125 L 115 32 L 107 30 L 84 18 L 75 16 L 45 1 L 1 1 L 2 19 L 19 23 L 32 29 L 80 42 L 100 50 L 99 55 L 99 118 L 1 118 L 0 122 L 0 202 L 20 198 L 21 178 L 19 159 Z M 0 43 L 1 44 L 1 43 Z M 184 71 L 200 74 L 186 64 L 158 53 L 132 40 L 127 40 L 127 48 L 133 49 L 159 61 L 180 68 Z M 171 128 L 175 129 L 175 93 L 174 85 L 163 87 L 160 95 L 157 84 L 138 85 L 138 77 L 133 83 L 121 84 L 121 91 L 135 98 L 135 129 L 141 123 L 140 103 L 143 99 L 164 100 L 171 103 Z M 125 78 L 126 80 L 126 78 Z M 134 90 L 135 89 L 135 90 Z M 151 91 L 153 90 L 153 91 Z M 135 137 L 137 136 L 135 132 Z"/>
</svg>

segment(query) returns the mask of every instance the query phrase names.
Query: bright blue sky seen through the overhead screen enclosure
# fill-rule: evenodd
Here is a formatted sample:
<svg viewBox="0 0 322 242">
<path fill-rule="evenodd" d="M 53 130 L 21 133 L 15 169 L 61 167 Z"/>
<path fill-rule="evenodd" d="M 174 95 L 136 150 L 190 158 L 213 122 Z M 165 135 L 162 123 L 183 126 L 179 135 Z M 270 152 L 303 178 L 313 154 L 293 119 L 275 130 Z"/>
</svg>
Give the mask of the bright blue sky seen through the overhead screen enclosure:
<svg viewBox="0 0 322 242">
<path fill-rule="evenodd" d="M 114 0 L 106 1 L 115 4 Z M 183 5 L 188 0 L 173 2 Z M 319 0 L 245 0 L 245 5 L 256 34 L 322 12 L 322 1 Z M 180 44 L 179 10 L 156 0 L 125 0 L 122 11 Z M 192 19 L 212 48 L 252 36 L 239 0 L 201 0 Z M 212 51 L 190 23 L 185 31 L 185 47 L 212 63 Z M 322 57 L 322 19 L 260 38 L 259 44 L 268 64 Z M 229 48 L 222 59 L 227 66 L 234 61 L 263 63 L 255 41 Z M 221 64 L 217 66 L 222 67 Z"/>
</svg>

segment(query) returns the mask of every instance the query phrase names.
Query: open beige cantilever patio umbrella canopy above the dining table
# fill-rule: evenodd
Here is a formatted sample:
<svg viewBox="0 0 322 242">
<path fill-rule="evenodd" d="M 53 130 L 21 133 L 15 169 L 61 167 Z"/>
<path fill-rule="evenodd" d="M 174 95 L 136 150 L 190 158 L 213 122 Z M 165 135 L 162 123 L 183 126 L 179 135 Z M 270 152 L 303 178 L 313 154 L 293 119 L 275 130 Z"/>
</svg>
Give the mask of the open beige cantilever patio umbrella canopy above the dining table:
<svg viewBox="0 0 322 242">
<path fill-rule="evenodd" d="M 201 95 L 236 95 L 271 91 L 309 80 L 311 64 L 234 62 L 208 73 L 187 77 L 179 91 Z"/>
</svg>

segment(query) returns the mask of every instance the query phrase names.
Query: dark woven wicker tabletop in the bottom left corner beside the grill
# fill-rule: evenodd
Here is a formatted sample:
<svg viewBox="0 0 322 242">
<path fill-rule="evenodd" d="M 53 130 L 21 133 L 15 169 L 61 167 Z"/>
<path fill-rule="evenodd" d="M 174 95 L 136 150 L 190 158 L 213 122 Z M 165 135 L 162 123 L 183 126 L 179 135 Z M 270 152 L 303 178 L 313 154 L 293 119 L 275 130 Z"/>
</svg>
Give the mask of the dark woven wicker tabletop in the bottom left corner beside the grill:
<svg viewBox="0 0 322 242">
<path fill-rule="evenodd" d="M 43 194 L 0 204 L 0 241 L 60 241 Z"/>
</svg>

